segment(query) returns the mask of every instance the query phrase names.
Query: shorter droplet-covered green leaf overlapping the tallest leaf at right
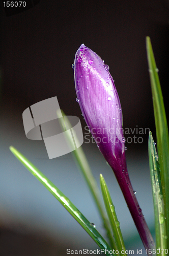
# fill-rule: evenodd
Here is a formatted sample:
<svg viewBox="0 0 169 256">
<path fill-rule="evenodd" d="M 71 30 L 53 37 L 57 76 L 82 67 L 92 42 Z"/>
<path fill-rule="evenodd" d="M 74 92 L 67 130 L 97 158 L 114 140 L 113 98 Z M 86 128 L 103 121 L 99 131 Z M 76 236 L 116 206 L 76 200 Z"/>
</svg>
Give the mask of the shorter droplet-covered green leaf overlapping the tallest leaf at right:
<svg viewBox="0 0 169 256">
<path fill-rule="evenodd" d="M 153 191 L 154 215 L 155 215 L 155 231 L 156 231 L 156 248 L 167 248 L 166 222 L 164 218 L 164 201 L 161 187 L 160 165 L 155 143 L 150 132 L 149 135 L 149 164 L 150 176 Z M 165 256 L 165 251 L 160 251 L 160 255 Z"/>
</svg>

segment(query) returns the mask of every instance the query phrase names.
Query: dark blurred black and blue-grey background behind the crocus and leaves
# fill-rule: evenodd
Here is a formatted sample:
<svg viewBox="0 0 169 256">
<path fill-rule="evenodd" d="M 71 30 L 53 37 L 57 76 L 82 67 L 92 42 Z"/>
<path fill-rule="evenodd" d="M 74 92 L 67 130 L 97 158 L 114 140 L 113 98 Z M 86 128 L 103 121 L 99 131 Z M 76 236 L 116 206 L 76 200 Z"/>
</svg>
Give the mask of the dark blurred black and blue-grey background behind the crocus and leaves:
<svg viewBox="0 0 169 256">
<path fill-rule="evenodd" d="M 84 43 L 110 67 L 109 71 L 115 79 L 122 105 L 124 129 L 148 127 L 155 138 L 146 36 L 151 38 L 167 109 L 169 2 L 41 0 L 30 10 L 8 17 L 2 2 L 0 6 L 0 255 L 65 255 L 65 248 L 70 245 L 75 249 L 95 248 L 94 242 L 62 209 L 59 202 L 17 162 L 10 153 L 9 146 L 12 144 L 18 148 L 63 193 L 70 195 L 71 201 L 91 222 L 99 222 L 93 201 L 71 155 L 49 160 L 43 141 L 28 140 L 25 137 L 22 112 L 36 102 L 57 96 L 66 115 L 78 116 L 82 127 L 85 127 L 80 108 L 75 101 L 71 68 L 75 52 Z M 139 137 L 136 132 L 134 135 Z M 140 205 L 144 205 L 143 211 L 146 212 L 147 221 L 153 231 L 148 133 L 142 137 L 143 143 L 126 143 L 128 169 L 137 198 L 140 197 Z M 128 248 L 142 248 L 114 175 L 95 144 L 84 143 L 83 148 L 98 182 L 100 173 L 109 180 L 107 183 L 110 190 L 112 189 Z M 124 211 L 125 218 L 122 214 Z M 24 241 L 24 253 L 21 251 L 21 241 Z M 28 246 L 30 244 L 32 247 Z M 45 252 L 42 246 L 53 250 L 46 249 Z M 26 248 L 30 248 L 30 251 Z"/>
</svg>

